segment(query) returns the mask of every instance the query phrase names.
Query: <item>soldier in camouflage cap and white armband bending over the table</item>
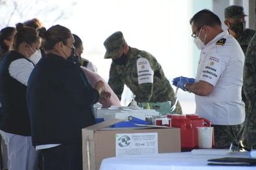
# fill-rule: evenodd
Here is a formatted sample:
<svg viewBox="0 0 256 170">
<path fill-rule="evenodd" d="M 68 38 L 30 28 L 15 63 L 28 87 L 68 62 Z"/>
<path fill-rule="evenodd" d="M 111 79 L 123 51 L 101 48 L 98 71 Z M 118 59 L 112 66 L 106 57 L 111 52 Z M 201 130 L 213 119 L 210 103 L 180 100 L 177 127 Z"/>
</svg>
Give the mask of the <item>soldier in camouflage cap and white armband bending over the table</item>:
<svg viewBox="0 0 256 170">
<path fill-rule="evenodd" d="M 175 104 L 174 91 L 158 61 L 147 51 L 129 47 L 122 32 L 108 37 L 104 58 L 111 58 L 108 84 L 121 100 L 124 84 L 135 94 L 137 102 L 167 102 Z M 176 114 L 182 114 L 177 102 Z"/>
</svg>

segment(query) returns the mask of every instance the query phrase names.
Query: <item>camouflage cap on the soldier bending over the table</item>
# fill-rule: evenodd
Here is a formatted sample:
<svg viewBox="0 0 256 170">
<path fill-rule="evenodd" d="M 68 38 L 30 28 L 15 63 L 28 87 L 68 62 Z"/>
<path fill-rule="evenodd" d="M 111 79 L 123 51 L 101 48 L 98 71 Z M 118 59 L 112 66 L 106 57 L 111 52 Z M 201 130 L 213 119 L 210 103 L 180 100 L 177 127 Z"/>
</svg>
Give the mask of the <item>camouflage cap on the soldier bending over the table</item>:
<svg viewBox="0 0 256 170">
<path fill-rule="evenodd" d="M 122 32 L 118 31 L 110 35 L 104 42 L 104 46 L 107 50 L 104 58 L 113 58 L 117 56 L 125 43 L 126 40 L 124 40 Z"/>
</svg>

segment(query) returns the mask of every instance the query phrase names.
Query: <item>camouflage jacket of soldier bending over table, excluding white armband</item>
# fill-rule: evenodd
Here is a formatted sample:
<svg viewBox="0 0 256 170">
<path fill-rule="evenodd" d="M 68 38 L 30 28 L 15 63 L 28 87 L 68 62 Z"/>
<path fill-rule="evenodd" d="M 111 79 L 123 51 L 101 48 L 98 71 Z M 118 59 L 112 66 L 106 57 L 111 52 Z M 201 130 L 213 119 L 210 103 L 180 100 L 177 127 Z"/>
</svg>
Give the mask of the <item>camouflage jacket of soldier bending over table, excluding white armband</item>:
<svg viewBox="0 0 256 170">
<path fill-rule="evenodd" d="M 171 101 L 171 105 L 175 104 L 174 91 L 170 82 L 165 77 L 163 69 L 158 61 L 147 51 L 130 48 L 129 60 L 126 65 L 111 64 L 109 71 L 108 84 L 121 100 L 124 84 L 129 87 L 130 91 L 135 94 L 135 101 L 137 102 L 167 102 Z M 147 58 L 150 66 L 154 71 L 153 84 L 152 83 L 138 83 L 137 74 L 137 59 L 139 56 Z M 176 114 L 182 114 L 181 105 L 177 102 Z"/>
</svg>

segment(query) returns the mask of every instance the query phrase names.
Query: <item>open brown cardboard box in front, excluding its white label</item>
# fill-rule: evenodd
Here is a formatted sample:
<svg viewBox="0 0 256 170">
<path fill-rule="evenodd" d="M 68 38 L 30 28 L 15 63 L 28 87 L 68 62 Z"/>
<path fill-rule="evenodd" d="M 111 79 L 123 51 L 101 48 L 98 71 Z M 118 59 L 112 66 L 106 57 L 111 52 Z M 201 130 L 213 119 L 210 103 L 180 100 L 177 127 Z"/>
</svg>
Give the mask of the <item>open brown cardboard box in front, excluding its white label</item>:
<svg viewBox="0 0 256 170">
<path fill-rule="evenodd" d="M 106 120 L 82 129 L 83 170 L 98 170 L 103 159 L 116 156 L 117 134 L 157 134 L 158 153 L 181 151 L 180 128 L 106 128 L 122 121 L 124 120 Z"/>
</svg>

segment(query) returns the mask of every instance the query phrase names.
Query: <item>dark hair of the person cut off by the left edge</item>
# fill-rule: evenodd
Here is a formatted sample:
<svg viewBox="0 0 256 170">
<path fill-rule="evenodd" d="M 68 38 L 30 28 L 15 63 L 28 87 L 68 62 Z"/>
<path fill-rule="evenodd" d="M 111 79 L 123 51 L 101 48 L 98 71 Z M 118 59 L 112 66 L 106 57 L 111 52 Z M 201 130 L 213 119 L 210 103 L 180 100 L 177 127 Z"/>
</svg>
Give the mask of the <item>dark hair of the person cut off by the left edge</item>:
<svg viewBox="0 0 256 170">
<path fill-rule="evenodd" d="M 16 29 L 14 27 L 5 27 L 0 30 L 0 50 L 2 54 L 9 51 L 9 47 L 4 43 L 4 40 L 11 40 L 15 30 Z"/>
</svg>

